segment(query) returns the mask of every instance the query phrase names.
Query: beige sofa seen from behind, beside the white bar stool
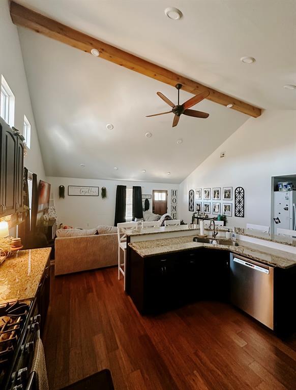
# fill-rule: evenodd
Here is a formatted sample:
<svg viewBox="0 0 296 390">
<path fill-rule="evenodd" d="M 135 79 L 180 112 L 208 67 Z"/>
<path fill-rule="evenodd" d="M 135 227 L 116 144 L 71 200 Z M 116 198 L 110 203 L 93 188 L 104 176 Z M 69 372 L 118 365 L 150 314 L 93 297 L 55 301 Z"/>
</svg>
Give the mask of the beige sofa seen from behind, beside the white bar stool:
<svg viewBox="0 0 296 390">
<path fill-rule="evenodd" d="M 114 226 L 105 228 L 108 229 L 83 232 L 82 230 L 61 232 L 62 229 L 59 229 L 55 239 L 54 274 L 65 275 L 117 265 L 118 240 L 115 233 L 117 228 Z"/>
</svg>

